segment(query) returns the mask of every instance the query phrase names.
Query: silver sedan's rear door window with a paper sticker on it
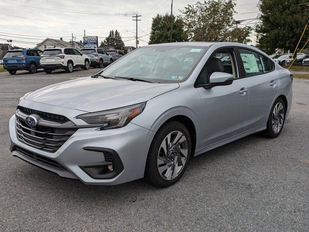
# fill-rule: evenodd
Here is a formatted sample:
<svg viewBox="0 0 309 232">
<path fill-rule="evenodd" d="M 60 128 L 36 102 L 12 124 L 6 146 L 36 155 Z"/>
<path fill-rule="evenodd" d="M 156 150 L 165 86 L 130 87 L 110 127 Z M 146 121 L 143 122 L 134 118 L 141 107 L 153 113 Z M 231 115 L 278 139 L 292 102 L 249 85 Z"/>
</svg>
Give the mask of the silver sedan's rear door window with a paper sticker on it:
<svg viewBox="0 0 309 232">
<path fill-rule="evenodd" d="M 262 62 L 260 60 L 259 55 L 256 52 L 246 49 L 238 49 L 238 50 L 240 53 L 242 63 L 244 65 L 246 76 L 264 73 Z"/>
</svg>

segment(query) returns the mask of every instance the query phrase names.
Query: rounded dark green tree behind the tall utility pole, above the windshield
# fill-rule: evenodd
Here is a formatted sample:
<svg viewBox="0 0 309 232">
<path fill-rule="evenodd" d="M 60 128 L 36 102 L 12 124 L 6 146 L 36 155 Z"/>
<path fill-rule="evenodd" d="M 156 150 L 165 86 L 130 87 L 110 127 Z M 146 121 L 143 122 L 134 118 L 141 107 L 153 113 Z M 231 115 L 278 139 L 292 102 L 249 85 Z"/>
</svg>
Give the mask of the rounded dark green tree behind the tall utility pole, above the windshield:
<svg viewBox="0 0 309 232">
<path fill-rule="evenodd" d="M 174 15 L 157 14 L 152 18 L 149 44 L 169 43 L 171 23 L 173 23 L 172 42 L 188 41 L 187 33 L 184 31 L 184 22 Z"/>
</svg>

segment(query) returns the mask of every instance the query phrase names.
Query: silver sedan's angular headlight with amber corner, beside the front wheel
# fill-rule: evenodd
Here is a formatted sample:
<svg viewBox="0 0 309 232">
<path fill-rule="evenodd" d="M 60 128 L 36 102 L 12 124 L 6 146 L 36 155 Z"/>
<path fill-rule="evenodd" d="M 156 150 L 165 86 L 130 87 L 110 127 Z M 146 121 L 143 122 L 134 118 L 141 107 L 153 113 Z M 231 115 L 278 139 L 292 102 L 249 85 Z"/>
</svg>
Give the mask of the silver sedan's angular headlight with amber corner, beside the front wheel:
<svg viewBox="0 0 309 232">
<path fill-rule="evenodd" d="M 100 124 L 102 129 L 114 129 L 127 125 L 143 112 L 145 105 L 146 102 L 143 102 L 118 109 L 79 115 L 76 118 L 83 119 L 88 124 Z"/>
</svg>

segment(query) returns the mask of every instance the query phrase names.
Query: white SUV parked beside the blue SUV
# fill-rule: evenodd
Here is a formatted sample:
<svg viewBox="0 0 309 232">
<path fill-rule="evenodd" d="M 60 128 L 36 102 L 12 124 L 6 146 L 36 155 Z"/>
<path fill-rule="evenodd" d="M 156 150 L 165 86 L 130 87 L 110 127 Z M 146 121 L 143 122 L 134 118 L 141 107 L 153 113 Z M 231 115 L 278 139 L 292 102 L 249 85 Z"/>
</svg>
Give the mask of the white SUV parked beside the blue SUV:
<svg viewBox="0 0 309 232">
<path fill-rule="evenodd" d="M 87 55 L 81 54 L 73 47 L 57 47 L 44 49 L 40 60 L 45 73 L 51 73 L 56 69 L 64 69 L 72 73 L 74 68 L 89 69 L 90 60 Z"/>
</svg>

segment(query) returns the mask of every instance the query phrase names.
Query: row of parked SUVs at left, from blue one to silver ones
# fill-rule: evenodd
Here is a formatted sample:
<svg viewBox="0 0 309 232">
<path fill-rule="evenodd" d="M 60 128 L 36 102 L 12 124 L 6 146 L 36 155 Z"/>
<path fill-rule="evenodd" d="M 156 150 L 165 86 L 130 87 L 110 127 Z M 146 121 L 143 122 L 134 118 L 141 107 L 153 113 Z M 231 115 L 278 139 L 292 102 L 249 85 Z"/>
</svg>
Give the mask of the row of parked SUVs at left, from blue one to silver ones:
<svg viewBox="0 0 309 232">
<path fill-rule="evenodd" d="M 3 68 L 10 74 L 17 70 L 28 70 L 36 73 L 43 68 L 45 73 L 57 69 L 72 73 L 74 68 L 103 68 L 122 57 L 121 50 L 104 50 L 103 48 L 83 48 L 80 51 L 73 47 L 46 48 L 44 51 L 34 48 L 9 50 L 3 58 Z"/>
</svg>

